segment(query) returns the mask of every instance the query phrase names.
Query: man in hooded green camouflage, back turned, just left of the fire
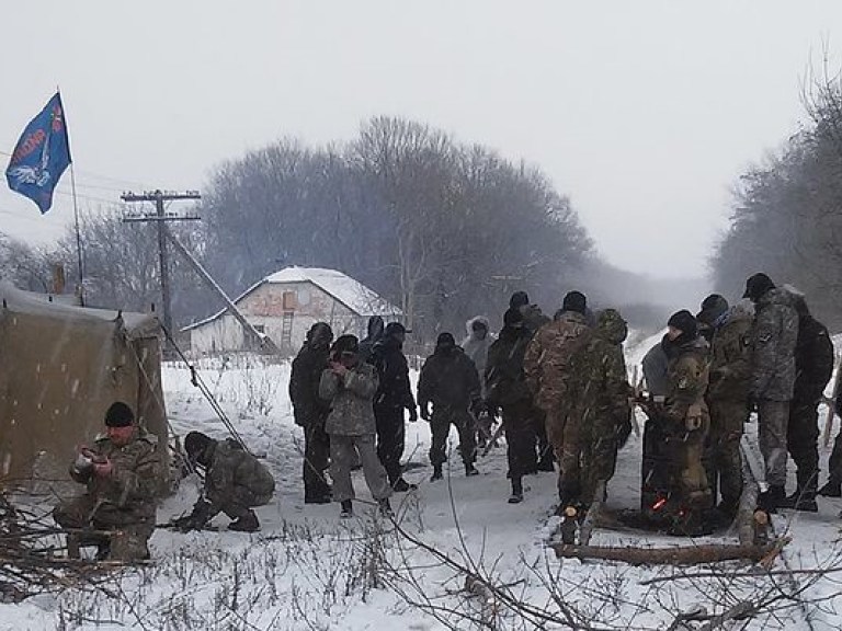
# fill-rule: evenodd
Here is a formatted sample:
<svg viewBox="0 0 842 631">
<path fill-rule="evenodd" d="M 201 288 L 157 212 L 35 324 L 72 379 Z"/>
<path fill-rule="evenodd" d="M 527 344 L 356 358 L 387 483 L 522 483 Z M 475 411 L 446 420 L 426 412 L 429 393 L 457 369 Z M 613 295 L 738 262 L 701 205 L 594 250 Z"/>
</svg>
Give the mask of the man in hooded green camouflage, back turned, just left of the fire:
<svg viewBox="0 0 842 631">
<path fill-rule="evenodd" d="M 630 432 L 630 386 L 623 356 L 625 320 L 605 309 L 571 360 L 577 412 L 565 425 L 561 491 L 568 503 L 590 505 L 614 475 L 617 449 Z"/>
</svg>

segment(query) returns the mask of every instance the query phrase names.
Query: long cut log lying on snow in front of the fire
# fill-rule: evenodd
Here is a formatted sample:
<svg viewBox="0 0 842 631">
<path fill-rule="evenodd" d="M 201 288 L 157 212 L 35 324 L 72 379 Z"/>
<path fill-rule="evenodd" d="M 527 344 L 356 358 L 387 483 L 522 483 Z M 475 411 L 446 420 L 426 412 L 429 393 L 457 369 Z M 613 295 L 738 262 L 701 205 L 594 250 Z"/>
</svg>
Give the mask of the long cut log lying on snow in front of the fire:
<svg viewBox="0 0 842 631">
<path fill-rule="evenodd" d="M 747 560 L 755 563 L 780 552 L 777 543 L 769 546 L 701 544 L 673 548 L 613 548 L 596 546 L 567 546 L 553 543 L 559 559 L 601 559 L 623 561 L 632 565 L 698 565 L 721 561 Z"/>
</svg>

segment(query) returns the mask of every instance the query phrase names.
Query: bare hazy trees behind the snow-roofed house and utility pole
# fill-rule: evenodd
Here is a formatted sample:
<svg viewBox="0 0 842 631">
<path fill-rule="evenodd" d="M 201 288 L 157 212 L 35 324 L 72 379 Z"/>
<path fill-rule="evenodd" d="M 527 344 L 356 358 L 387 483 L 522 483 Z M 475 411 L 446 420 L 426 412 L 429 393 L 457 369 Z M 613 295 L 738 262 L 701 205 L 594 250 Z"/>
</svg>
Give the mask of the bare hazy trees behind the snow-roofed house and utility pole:
<svg viewBox="0 0 842 631">
<path fill-rule="evenodd" d="M 229 295 L 287 265 L 331 267 L 401 307 L 419 341 L 498 316 L 516 289 L 557 306 L 594 260 L 569 199 L 539 169 L 395 117 L 365 122 L 345 144 L 282 139 L 231 159 L 196 210 L 202 222 L 173 229 Z M 115 205 L 82 217 L 86 296 L 148 310 L 160 301 L 156 229 L 122 216 Z M 20 286 L 45 290 L 50 262 L 75 277 L 72 230 L 47 249 L 0 242 L 0 271 Z M 171 275 L 179 324 L 221 306 L 177 256 Z"/>
</svg>

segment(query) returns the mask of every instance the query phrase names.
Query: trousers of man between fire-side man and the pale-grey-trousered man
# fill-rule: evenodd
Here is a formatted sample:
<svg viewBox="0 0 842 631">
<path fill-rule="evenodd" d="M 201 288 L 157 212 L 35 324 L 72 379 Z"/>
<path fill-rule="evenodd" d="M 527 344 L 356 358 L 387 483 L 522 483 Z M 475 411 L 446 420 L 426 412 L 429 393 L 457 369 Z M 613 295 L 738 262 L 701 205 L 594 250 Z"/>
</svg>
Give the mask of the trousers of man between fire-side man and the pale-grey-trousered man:
<svg viewBox="0 0 842 631">
<path fill-rule="evenodd" d="M 719 477 L 722 504 L 737 508 L 742 494 L 742 456 L 740 437 L 749 414 L 748 401 L 709 401 L 710 444 Z"/>
</svg>

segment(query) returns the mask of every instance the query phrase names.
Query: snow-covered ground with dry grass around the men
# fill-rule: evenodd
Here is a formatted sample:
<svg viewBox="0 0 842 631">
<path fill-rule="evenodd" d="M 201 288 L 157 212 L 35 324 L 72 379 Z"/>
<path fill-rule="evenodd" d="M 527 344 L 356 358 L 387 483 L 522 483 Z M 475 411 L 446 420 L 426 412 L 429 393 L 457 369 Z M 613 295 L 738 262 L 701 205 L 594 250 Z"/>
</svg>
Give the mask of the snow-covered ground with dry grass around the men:
<svg viewBox="0 0 842 631">
<path fill-rule="evenodd" d="M 629 348 L 629 365 L 658 340 L 660 334 Z M 831 570 L 820 577 L 764 576 L 737 563 L 682 570 L 561 562 L 547 547 L 557 525 L 553 473 L 530 477 L 524 502 L 510 505 L 505 451 L 499 448 L 479 461 L 479 477 L 466 478 L 454 457 L 450 475 L 431 483 L 429 427 L 419 422 L 408 424 L 406 452 L 406 478 L 419 489 L 396 496 L 398 527 L 363 503 L 371 496 L 361 474 L 354 482 L 357 516 L 340 521 L 338 506 L 303 503 L 301 432 L 286 394 L 288 364 L 238 357 L 200 368 L 238 432 L 275 474 L 275 497 L 258 509 L 262 530 L 228 532 L 225 516 L 214 521 L 218 531 L 159 529 L 150 543 L 151 565 L 121 572 L 101 590 L 68 588 L 0 605 L 0 629 L 665 629 L 679 611 L 704 606 L 718 613 L 743 600 L 760 612 L 724 628 L 842 628 L 842 585 L 832 571 L 842 567 L 837 518 L 842 501 L 822 498 L 816 515 L 775 517 L 777 531 L 792 537 L 788 567 Z M 186 367 L 166 366 L 164 391 L 177 434 L 200 429 L 226 436 Z M 611 481 L 608 507 L 638 505 L 640 451 L 640 438 L 633 435 Z M 196 482 L 184 481 L 159 510 L 159 521 L 190 509 L 196 493 Z M 736 537 L 724 532 L 695 543 L 705 541 L 736 542 Z M 596 529 L 591 543 L 693 542 Z M 785 569 L 783 560 L 773 567 Z M 466 570 L 501 593 L 466 589 Z M 521 616 L 514 611 L 519 603 Z"/>
</svg>

